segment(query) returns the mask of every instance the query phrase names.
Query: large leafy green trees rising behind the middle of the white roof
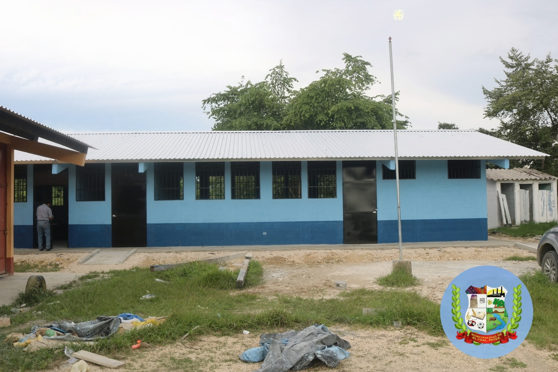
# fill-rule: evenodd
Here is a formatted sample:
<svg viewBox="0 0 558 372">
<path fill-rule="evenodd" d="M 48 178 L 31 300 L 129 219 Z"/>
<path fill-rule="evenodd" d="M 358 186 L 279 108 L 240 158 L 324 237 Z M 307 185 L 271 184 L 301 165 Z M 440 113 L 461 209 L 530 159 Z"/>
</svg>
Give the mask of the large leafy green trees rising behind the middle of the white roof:
<svg viewBox="0 0 558 372">
<path fill-rule="evenodd" d="M 347 53 L 343 61 L 343 69 L 321 70 L 319 80 L 299 90 L 280 62 L 264 81 L 229 85 L 204 99 L 202 107 L 215 119 L 215 131 L 393 128 L 391 96 L 365 93 L 376 83 L 370 62 Z M 398 128 L 405 129 L 408 117 L 396 114 Z"/>
</svg>

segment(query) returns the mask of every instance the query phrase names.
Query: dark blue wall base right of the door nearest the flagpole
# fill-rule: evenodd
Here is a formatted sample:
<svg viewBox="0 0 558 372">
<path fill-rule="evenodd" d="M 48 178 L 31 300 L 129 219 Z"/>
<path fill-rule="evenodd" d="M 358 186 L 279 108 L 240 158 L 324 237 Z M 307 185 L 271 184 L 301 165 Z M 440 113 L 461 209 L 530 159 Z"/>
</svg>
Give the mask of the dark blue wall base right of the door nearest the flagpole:
<svg viewBox="0 0 558 372">
<path fill-rule="evenodd" d="M 403 242 L 488 240 L 488 220 L 402 220 Z M 378 221 L 378 243 L 397 243 L 397 220 Z"/>
</svg>

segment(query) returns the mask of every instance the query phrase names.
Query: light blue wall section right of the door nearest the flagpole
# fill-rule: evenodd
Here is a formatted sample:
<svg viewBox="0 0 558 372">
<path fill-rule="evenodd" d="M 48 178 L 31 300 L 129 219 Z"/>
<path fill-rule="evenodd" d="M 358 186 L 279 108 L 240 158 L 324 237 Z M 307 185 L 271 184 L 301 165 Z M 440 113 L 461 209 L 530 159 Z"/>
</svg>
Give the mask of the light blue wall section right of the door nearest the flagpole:
<svg viewBox="0 0 558 372">
<path fill-rule="evenodd" d="M 395 180 L 382 180 L 382 163 L 377 161 L 378 220 L 397 220 Z M 485 162 L 480 161 L 480 178 L 448 179 L 448 161 L 417 160 L 416 180 L 400 180 L 401 219 L 487 218 Z"/>
</svg>

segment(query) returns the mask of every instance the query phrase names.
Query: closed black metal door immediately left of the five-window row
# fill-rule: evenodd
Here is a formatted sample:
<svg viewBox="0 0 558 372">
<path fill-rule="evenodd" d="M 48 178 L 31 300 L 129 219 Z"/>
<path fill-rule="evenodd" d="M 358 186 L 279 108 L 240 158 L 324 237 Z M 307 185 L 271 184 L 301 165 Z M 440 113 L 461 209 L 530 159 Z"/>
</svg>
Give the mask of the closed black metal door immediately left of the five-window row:
<svg viewBox="0 0 558 372">
<path fill-rule="evenodd" d="M 137 163 L 112 164 L 112 246 L 147 247 L 146 173 Z"/>
</svg>

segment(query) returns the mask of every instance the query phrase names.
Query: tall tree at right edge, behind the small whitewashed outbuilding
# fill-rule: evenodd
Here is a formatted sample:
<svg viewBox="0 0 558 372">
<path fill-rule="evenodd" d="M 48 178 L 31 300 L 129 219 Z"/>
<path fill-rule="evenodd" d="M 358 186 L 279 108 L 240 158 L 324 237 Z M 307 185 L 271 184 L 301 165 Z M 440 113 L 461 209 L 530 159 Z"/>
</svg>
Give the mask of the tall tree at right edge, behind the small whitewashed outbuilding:
<svg viewBox="0 0 558 372">
<path fill-rule="evenodd" d="M 505 78 L 494 79 L 492 90 L 482 87 L 487 99 L 484 117 L 500 122 L 487 134 L 550 154 L 542 160 L 512 161 L 511 166 L 558 175 L 558 61 L 550 54 L 531 59 L 515 48 L 500 61 Z"/>
</svg>

